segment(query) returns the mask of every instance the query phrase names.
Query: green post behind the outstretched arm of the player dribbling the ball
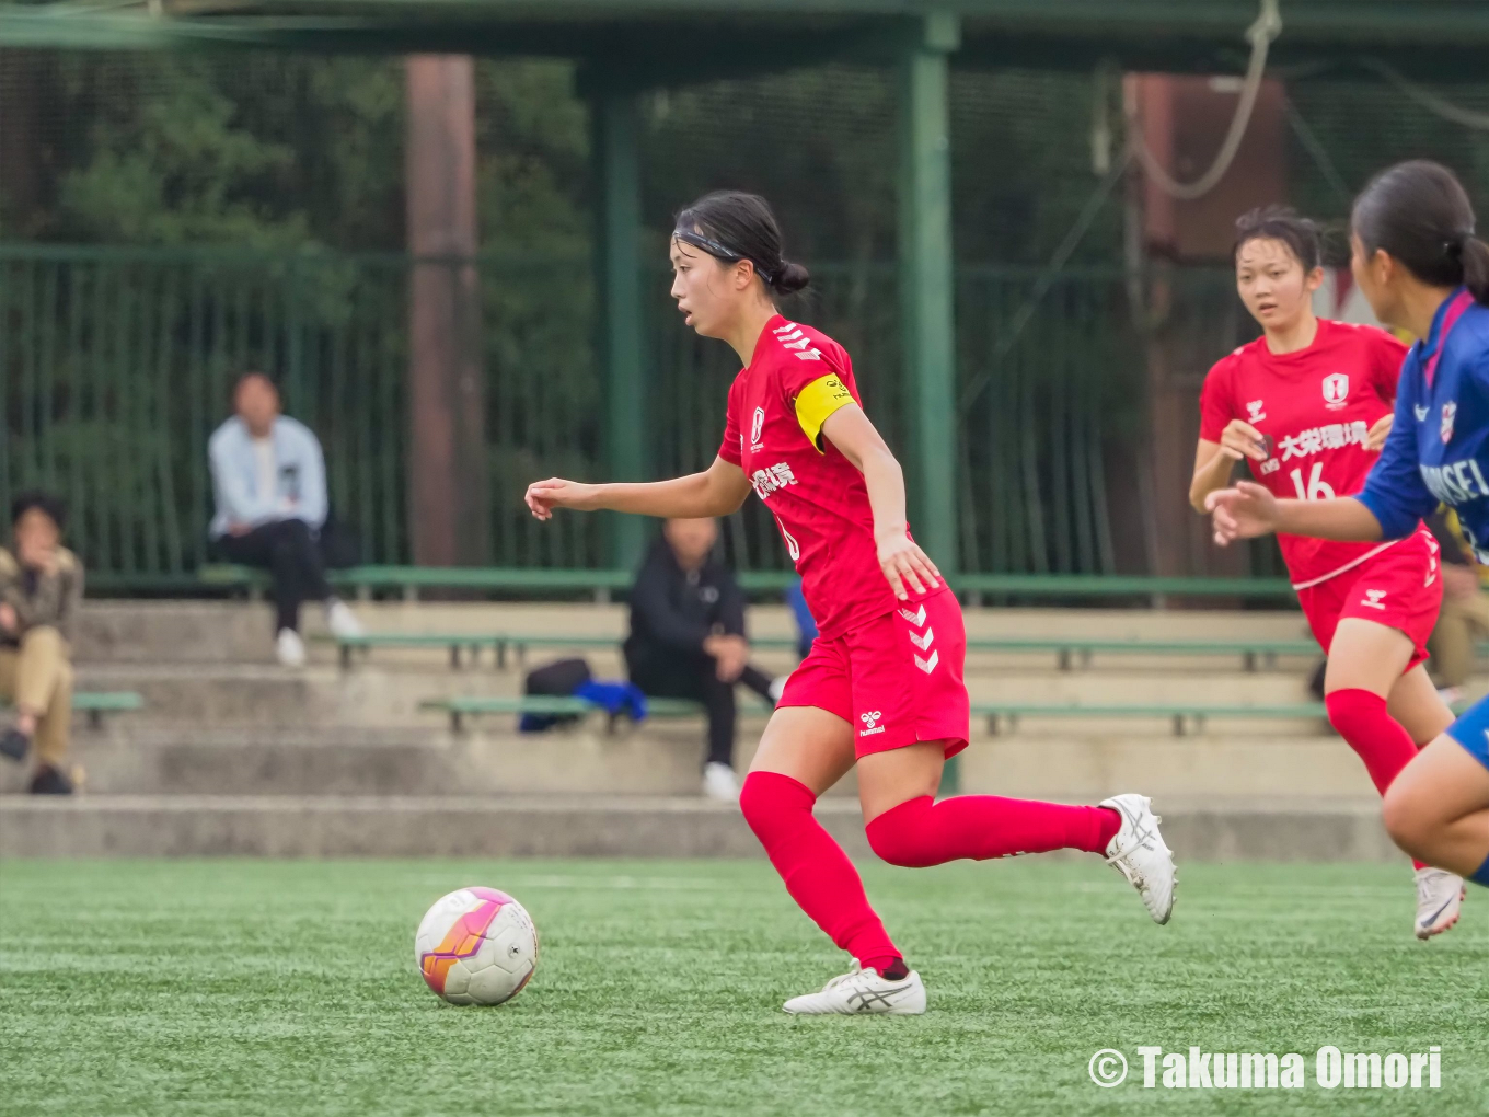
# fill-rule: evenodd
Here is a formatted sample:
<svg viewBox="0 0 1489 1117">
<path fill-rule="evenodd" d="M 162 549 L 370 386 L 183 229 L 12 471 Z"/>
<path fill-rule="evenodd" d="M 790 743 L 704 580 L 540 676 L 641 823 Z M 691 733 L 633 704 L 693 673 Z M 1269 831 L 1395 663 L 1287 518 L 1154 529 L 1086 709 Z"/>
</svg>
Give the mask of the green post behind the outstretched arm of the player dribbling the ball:
<svg viewBox="0 0 1489 1117">
<path fill-rule="evenodd" d="M 591 106 L 600 183 L 596 290 L 606 380 L 606 465 L 610 480 L 645 481 L 651 472 L 642 353 L 639 110 L 634 92 L 613 88 L 597 89 Z M 640 517 L 612 517 L 610 564 L 634 567 L 645 539 Z"/>
</svg>

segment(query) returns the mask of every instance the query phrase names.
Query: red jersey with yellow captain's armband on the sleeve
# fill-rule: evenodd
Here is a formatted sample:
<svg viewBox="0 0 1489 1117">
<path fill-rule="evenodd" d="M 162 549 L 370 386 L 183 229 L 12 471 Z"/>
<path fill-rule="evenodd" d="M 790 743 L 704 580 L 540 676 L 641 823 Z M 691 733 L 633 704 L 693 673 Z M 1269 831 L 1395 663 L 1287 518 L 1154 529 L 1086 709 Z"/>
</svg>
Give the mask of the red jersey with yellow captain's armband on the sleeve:
<svg viewBox="0 0 1489 1117">
<path fill-rule="evenodd" d="M 847 350 L 777 314 L 730 387 L 719 447 L 776 517 L 825 640 L 899 605 L 879 567 L 864 475 L 822 436 L 849 404 L 862 405 Z"/>
</svg>

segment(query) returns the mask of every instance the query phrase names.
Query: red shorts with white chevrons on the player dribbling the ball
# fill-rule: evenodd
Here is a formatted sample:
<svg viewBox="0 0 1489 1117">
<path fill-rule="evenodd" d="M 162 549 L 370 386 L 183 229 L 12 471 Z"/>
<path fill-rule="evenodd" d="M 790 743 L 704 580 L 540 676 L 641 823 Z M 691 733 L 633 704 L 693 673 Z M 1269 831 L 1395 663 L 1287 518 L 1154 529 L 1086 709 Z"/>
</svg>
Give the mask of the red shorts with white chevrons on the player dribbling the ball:
<svg viewBox="0 0 1489 1117">
<path fill-rule="evenodd" d="M 901 606 L 834 640 L 817 639 L 777 706 L 816 706 L 853 727 L 855 755 L 944 740 L 966 748 L 971 710 L 962 663 L 966 628 L 950 590 Z"/>
</svg>

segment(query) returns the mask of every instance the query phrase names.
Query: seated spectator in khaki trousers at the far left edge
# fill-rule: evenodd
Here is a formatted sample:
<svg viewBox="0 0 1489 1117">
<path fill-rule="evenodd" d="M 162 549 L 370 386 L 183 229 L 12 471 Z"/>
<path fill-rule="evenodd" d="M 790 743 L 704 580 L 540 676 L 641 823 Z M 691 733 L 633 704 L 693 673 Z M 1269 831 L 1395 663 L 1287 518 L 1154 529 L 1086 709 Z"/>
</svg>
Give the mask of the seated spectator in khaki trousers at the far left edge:
<svg viewBox="0 0 1489 1117">
<path fill-rule="evenodd" d="M 64 523 L 61 500 L 22 493 L 10 505 L 13 548 L 0 548 L 0 698 L 15 704 L 0 752 L 19 761 L 34 751 L 31 791 L 42 795 L 73 792 L 68 645 L 83 597 L 83 566 L 61 545 Z"/>
</svg>

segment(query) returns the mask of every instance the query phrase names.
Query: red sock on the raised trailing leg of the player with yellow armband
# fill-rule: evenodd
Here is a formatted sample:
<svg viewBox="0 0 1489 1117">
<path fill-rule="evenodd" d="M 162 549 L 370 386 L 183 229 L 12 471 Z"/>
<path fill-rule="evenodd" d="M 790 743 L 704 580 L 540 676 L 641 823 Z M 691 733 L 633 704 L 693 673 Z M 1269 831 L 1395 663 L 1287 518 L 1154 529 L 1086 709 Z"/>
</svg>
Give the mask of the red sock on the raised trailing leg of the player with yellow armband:
<svg viewBox="0 0 1489 1117">
<path fill-rule="evenodd" d="M 1051 849 L 1103 853 L 1121 828 L 1109 807 L 1068 807 L 998 795 L 929 795 L 890 807 L 868 824 L 868 844 L 892 865 L 925 868 L 957 858 L 987 861 Z"/>
</svg>

